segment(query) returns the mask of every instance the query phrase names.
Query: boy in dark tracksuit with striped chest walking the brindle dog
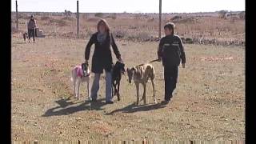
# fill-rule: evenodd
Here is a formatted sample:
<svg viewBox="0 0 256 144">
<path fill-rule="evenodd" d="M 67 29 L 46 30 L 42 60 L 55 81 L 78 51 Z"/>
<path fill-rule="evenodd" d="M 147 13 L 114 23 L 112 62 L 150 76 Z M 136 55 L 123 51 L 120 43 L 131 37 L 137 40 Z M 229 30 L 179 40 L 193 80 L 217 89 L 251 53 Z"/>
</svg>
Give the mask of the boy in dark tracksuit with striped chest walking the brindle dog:
<svg viewBox="0 0 256 144">
<path fill-rule="evenodd" d="M 158 46 L 158 60 L 162 60 L 165 79 L 165 100 L 167 104 L 173 97 L 173 91 L 176 88 L 178 79 L 178 66 L 182 61 L 182 67 L 185 68 L 186 55 L 182 40 L 174 34 L 174 23 L 168 22 L 164 26 L 166 36 L 161 38 Z"/>
</svg>

